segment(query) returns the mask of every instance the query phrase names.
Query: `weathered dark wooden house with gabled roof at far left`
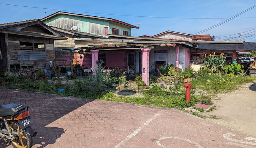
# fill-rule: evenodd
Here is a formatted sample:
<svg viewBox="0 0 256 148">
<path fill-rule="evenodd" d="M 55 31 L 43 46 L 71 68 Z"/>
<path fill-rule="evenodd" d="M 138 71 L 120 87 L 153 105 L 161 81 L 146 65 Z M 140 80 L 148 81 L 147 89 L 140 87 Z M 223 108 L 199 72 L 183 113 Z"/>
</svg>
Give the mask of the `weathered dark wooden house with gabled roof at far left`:
<svg viewBox="0 0 256 148">
<path fill-rule="evenodd" d="M 60 39 L 66 38 L 40 19 L 0 24 L 0 73 L 45 69 Z"/>
</svg>

